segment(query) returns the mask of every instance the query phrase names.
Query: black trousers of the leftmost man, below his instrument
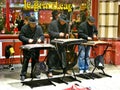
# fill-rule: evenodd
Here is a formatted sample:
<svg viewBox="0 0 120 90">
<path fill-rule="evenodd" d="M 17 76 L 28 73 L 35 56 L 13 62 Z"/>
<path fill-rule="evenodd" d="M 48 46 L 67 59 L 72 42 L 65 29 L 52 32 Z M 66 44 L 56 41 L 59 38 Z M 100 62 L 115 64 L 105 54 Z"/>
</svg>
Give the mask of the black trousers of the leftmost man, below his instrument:
<svg viewBox="0 0 120 90">
<path fill-rule="evenodd" d="M 34 68 L 34 65 L 39 62 L 39 50 L 38 49 L 31 49 L 31 50 L 23 50 L 23 64 L 22 64 L 22 70 L 21 70 L 21 76 L 26 76 L 27 74 L 27 68 L 29 60 L 32 60 L 31 63 L 31 74 Z"/>
</svg>

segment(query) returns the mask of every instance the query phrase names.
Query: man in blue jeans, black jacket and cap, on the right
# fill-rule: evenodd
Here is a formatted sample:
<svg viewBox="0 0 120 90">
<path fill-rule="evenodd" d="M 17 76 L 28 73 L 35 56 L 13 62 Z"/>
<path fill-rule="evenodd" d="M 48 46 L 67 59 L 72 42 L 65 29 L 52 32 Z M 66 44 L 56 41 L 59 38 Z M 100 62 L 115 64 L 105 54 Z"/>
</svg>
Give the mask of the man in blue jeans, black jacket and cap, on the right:
<svg viewBox="0 0 120 90">
<path fill-rule="evenodd" d="M 95 18 L 89 16 L 85 22 L 82 22 L 78 29 L 78 38 L 83 38 L 86 40 L 93 40 L 97 38 L 97 28 L 94 25 Z M 79 73 L 89 72 L 89 53 L 90 46 L 79 45 L 79 57 L 78 57 L 78 67 L 80 69 Z"/>
</svg>

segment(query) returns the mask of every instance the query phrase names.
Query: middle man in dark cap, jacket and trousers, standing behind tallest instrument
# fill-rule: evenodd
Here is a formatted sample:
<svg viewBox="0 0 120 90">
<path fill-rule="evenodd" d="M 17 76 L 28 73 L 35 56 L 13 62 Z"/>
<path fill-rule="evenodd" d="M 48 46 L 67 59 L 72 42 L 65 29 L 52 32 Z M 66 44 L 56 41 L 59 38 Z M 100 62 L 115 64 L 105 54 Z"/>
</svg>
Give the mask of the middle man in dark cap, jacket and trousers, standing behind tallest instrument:
<svg viewBox="0 0 120 90">
<path fill-rule="evenodd" d="M 48 26 L 48 33 L 50 40 L 68 37 L 67 16 L 65 14 L 61 14 L 58 20 L 53 20 Z M 58 52 L 60 55 L 60 60 L 58 60 L 59 58 L 56 51 L 53 50 L 49 53 L 50 57 L 47 60 L 49 77 L 52 77 L 53 69 L 59 66 L 62 67 L 63 73 L 67 72 L 66 51 L 62 46 L 58 45 Z"/>
</svg>

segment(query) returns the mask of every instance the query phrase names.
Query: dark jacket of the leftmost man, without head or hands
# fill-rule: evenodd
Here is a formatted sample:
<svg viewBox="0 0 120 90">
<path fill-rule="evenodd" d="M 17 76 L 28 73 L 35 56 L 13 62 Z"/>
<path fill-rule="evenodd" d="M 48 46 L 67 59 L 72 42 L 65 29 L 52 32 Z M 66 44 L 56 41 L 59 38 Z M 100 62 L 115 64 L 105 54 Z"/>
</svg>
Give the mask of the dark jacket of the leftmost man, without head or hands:
<svg viewBox="0 0 120 90">
<path fill-rule="evenodd" d="M 41 26 L 36 25 L 35 30 L 32 31 L 29 24 L 24 25 L 20 31 L 20 34 L 18 36 L 19 40 L 23 42 L 23 45 L 29 44 L 28 40 L 29 39 L 34 39 L 34 44 L 37 43 L 37 39 L 41 39 L 44 41 L 44 34 L 42 31 Z"/>
</svg>

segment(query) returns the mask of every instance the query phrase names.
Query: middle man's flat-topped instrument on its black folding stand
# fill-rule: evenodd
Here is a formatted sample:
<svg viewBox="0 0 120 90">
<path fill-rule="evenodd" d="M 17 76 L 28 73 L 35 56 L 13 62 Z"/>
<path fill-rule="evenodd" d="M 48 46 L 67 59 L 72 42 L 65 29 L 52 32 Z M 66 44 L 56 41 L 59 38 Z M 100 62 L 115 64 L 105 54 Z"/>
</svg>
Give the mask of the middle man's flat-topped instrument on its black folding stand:
<svg viewBox="0 0 120 90">
<path fill-rule="evenodd" d="M 62 58 L 61 58 L 60 53 L 58 51 L 58 45 L 61 45 L 62 48 L 64 48 L 64 49 L 69 49 L 68 46 L 71 46 L 71 45 L 80 45 L 83 42 L 86 42 L 86 40 L 84 40 L 84 39 L 55 39 L 55 40 L 51 41 L 51 43 L 56 46 L 56 50 L 57 50 L 57 54 L 58 54 L 59 60 L 62 60 Z M 75 47 L 74 46 L 71 46 L 71 47 L 73 47 L 73 51 L 74 51 Z M 72 55 L 74 55 L 74 53 Z M 74 59 L 73 60 L 75 60 L 75 58 L 77 56 L 78 55 L 74 55 Z M 71 59 L 71 57 L 70 57 L 70 59 Z M 76 62 L 77 62 L 77 60 L 76 60 Z M 74 65 L 75 63 L 72 63 L 72 64 Z M 80 80 L 78 80 L 76 78 L 76 75 L 75 75 L 75 72 L 73 70 L 73 67 L 67 65 L 67 68 L 72 69 L 73 76 L 72 75 L 66 76 L 65 75 L 66 73 L 63 73 L 63 77 L 61 78 L 61 81 L 63 81 L 66 84 L 68 84 L 67 83 L 68 80 L 65 80 L 65 79 L 72 79 L 72 81 L 79 81 L 79 82 L 81 82 Z"/>
</svg>

